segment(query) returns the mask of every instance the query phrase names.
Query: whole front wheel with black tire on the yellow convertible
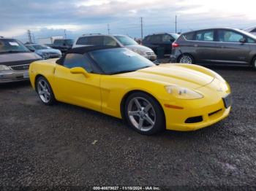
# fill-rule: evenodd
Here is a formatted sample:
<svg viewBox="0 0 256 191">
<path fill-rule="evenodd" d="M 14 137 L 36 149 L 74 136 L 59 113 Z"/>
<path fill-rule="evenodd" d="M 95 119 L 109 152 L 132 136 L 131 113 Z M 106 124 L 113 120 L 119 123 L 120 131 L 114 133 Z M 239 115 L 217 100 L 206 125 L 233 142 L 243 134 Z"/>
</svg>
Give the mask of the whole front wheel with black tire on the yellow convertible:
<svg viewBox="0 0 256 191">
<path fill-rule="evenodd" d="M 136 99 L 141 106 L 140 109 L 135 104 Z M 135 112 L 137 114 L 133 114 Z M 143 135 L 153 135 L 165 130 L 165 114 L 162 107 L 147 93 L 136 92 L 128 96 L 124 105 L 124 118 L 132 129 Z"/>
</svg>

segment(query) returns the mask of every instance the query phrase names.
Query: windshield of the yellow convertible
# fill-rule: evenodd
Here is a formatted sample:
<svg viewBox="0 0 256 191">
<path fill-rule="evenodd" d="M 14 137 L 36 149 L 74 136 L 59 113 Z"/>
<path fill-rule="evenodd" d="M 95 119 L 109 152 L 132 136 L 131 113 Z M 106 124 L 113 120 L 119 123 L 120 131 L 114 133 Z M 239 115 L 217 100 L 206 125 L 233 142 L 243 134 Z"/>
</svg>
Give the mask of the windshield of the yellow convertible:
<svg viewBox="0 0 256 191">
<path fill-rule="evenodd" d="M 148 59 L 127 48 L 95 50 L 90 52 L 89 55 L 105 74 L 120 74 L 155 66 Z"/>
</svg>

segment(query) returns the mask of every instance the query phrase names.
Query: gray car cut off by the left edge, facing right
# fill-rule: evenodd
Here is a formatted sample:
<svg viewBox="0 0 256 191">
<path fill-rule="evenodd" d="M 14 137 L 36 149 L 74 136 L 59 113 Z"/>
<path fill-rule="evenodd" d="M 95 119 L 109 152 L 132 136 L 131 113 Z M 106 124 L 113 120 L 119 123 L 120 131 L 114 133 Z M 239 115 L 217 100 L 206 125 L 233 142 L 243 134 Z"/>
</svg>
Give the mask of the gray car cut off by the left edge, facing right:
<svg viewBox="0 0 256 191">
<path fill-rule="evenodd" d="M 29 79 L 29 65 L 42 58 L 16 39 L 0 37 L 0 83 Z"/>
</svg>

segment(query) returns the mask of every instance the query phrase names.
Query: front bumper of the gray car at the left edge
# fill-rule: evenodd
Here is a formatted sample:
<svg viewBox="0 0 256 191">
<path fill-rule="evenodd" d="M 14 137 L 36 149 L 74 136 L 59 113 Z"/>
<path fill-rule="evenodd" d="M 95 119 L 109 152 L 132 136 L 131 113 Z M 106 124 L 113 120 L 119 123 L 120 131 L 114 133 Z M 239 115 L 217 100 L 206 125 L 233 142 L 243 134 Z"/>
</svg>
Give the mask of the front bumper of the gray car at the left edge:
<svg viewBox="0 0 256 191">
<path fill-rule="evenodd" d="M 29 71 L 13 71 L 5 70 L 0 71 L 0 83 L 7 82 L 19 82 L 23 80 L 29 80 Z"/>
</svg>

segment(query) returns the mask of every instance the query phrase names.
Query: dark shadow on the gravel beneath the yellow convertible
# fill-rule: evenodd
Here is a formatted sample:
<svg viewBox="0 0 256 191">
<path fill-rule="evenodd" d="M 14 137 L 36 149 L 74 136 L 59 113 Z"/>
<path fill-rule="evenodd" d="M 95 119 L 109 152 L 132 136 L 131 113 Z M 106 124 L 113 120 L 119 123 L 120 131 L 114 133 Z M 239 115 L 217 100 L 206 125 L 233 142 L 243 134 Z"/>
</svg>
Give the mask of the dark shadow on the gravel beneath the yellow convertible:
<svg viewBox="0 0 256 191">
<path fill-rule="evenodd" d="M 85 125 L 91 126 L 91 131 L 94 131 L 93 128 L 95 129 L 96 132 L 100 131 L 109 131 L 108 133 L 111 134 L 116 134 L 118 133 L 119 136 L 127 136 L 128 137 L 137 137 L 139 139 L 154 139 L 154 140 L 162 140 L 162 139 L 171 139 L 171 140 L 180 140 L 180 139 L 205 139 L 206 137 L 209 137 L 210 135 L 215 135 L 219 133 L 221 128 L 225 128 L 225 123 L 224 122 L 218 122 L 217 124 L 211 125 L 206 128 L 202 128 L 200 130 L 194 130 L 194 131 L 176 131 L 176 130 L 163 130 L 161 133 L 157 133 L 155 135 L 151 136 L 145 136 L 140 133 L 135 132 L 135 130 L 132 130 L 132 128 L 129 127 L 127 122 L 125 120 L 118 119 L 116 117 L 111 117 L 107 114 L 102 114 L 100 112 L 96 112 L 91 109 L 86 109 L 80 106 L 74 106 L 70 104 L 64 104 L 61 102 L 58 102 L 55 106 L 53 107 L 58 107 L 62 111 L 67 110 L 67 112 L 72 112 L 72 115 L 75 114 L 78 116 L 78 119 L 80 118 L 80 115 L 84 115 L 86 117 L 93 117 L 94 119 L 97 119 L 97 121 L 94 120 L 87 120 L 85 121 Z M 81 119 L 83 120 L 83 119 Z M 93 124 L 91 124 L 93 122 Z M 119 131 L 119 132 L 118 132 Z"/>
</svg>

